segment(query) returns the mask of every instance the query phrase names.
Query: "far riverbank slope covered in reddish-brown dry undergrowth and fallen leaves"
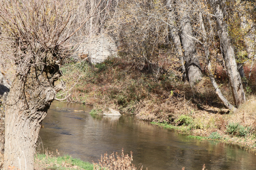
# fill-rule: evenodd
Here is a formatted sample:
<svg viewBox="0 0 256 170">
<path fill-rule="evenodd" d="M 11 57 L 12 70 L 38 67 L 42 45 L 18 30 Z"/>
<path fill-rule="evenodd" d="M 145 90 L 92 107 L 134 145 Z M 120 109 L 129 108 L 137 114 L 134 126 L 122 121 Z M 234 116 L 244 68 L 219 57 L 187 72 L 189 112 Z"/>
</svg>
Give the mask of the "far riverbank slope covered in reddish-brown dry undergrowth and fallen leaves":
<svg viewBox="0 0 256 170">
<path fill-rule="evenodd" d="M 118 58 L 93 67 L 79 64 L 62 70 L 62 80 L 68 89 L 72 88 L 70 102 L 90 105 L 94 111 L 113 108 L 124 114 L 132 113 L 140 120 L 170 125 L 182 133 L 256 148 L 256 97 L 252 83 L 246 88 L 247 101 L 233 113 L 218 99 L 208 77 L 191 87 L 171 72 L 156 80 L 154 74 L 133 68 Z M 218 73 L 216 80 L 232 102 L 225 76 Z"/>
</svg>

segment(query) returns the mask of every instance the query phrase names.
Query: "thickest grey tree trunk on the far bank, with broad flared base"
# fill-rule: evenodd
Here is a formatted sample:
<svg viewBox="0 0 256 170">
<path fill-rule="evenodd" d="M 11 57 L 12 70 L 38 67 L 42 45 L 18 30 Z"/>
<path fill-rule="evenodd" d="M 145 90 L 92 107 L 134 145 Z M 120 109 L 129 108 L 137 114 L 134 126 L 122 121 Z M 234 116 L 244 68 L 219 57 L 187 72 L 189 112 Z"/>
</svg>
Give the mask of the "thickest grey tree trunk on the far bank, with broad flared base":
<svg viewBox="0 0 256 170">
<path fill-rule="evenodd" d="M 189 14 L 183 8 L 183 16 L 181 16 L 181 41 L 184 49 L 184 56 L 186 59 L 186 70 L 188 74 L 188 82 L 190 85 L 194 85 L 196 81 L 202 79 L 202 71 L 200 67 L 200 63 L 197 59 L 196 46 L 191 37 L 192 34 L 192 26 L 190 23 Z"/>
</svg>

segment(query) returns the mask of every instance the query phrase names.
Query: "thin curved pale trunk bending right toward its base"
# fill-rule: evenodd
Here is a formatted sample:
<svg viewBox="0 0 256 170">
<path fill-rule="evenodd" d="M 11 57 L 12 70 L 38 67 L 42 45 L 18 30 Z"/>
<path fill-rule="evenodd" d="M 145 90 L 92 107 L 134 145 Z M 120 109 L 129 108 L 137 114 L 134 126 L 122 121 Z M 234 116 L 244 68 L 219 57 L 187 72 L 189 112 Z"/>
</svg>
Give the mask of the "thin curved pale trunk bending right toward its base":
<svg viewBox="0 0 256 170">
<path fill-rule="evenodd" d="M 232 104 L 229 103 L 229 101 L 225 98 L 225 96 L 222 94 L 222 92 L 220 91 L 220 88 L 218 86 L 218 84 L 215 81 L 214 78 L 214 71 L 212 70 L 212 63 L 211 63 L 211 57 L 210 57 L 210 51 L 207 45 L 207 34 L 204 28 L 204 21 L 203 21 L 203 17 L 202 17 L 202 13 L 199 14 L 200 17 L 200 24 L 201 24 L 201 29 L 203 32 L 203 47 L 204 47 L 204 51 L 205 51 L 205 57 L 207 58 L 207 67 L 208 67 L 208 71 L 209 71 L 209 78 L 211 80 L 212 86 L 216 92 L 216 94 L 218 95 L 218 97 L 220 98 L 220 100 L 222 101 L 222 103 L 231 111 L 236 111 L 236 107 L 234 107 Z"/>
</svg>

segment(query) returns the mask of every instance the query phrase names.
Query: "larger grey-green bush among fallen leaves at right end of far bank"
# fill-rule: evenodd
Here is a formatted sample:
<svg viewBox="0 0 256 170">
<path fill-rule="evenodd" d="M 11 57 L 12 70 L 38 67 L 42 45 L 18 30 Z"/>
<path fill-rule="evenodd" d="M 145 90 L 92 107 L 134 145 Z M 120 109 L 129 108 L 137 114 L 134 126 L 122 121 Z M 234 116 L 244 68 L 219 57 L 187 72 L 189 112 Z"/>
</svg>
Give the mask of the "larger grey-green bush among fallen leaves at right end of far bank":
<svg viewBox="0 0 256 170">
<path fill-rule="evenodd" d="M 226 132 L 230 135 L 244 137 L 249 134 L 250 128 L 239 125 L 239 123 L 229 123 Z"/>
</svg>

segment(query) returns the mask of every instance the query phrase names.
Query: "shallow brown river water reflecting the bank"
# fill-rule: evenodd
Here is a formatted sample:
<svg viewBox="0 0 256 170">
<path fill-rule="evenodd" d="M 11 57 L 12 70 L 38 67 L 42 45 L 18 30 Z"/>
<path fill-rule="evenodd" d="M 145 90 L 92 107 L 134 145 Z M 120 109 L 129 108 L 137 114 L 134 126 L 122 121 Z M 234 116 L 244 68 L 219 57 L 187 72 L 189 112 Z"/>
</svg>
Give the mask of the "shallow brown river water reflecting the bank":
<svg viewBox="0 0 256 170">
<path fill-rule="evenodd" d="M 59 108 L 56 108 L 59 107 Z M 79 112 L 83 110 L 85 112 Z M 238 146 L 213 140 L 198 140 L 175 133 L 133 115 L 90 115 L 91 107 L 53 102 L 40 129 L 44 150 L 59 150 L 89 162 L 98 162 L 100 154 L 133 152 L 148 170 L 256 170 L 256 155 Z M 41 147 L 42 148 L 42 147 Z"/>
</svg>

